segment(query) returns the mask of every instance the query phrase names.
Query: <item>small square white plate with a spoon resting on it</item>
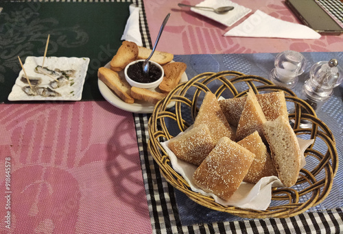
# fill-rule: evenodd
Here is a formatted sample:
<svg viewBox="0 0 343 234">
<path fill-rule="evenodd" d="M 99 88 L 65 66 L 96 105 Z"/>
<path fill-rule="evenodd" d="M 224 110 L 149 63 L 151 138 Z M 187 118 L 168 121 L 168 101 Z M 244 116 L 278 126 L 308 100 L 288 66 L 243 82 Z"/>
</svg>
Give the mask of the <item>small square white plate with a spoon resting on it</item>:
<svg viewBox="0 0 343 234">
<path fill-rule="evenodd" d="M 217 14 L 211 10 L 200 10 L 196 8 L 191 8 L 191 11 L 201 14 L 203 16 L 206 16 L 208 18 L 211 18 L 214 21 L 222 23 L 223 25 L 226 25 L 228 27 L 230 27 L 231 25 L 239 21 L 241 18 L 246 16 L 246 14 L 248 14 L 249 12 L 251 12 L 251 9 L 245 8 L 244 6 L 238 5 L 237 3 L 233 3 L 232 1 L 229 1 L 229 0 L 205 0 L 197 4 L 197 6 L 203 6 L 203 7 L 209 7 L 209 8 L 233 6 L 234 9 L 226 14 Z"/>
</svg>

